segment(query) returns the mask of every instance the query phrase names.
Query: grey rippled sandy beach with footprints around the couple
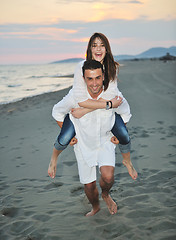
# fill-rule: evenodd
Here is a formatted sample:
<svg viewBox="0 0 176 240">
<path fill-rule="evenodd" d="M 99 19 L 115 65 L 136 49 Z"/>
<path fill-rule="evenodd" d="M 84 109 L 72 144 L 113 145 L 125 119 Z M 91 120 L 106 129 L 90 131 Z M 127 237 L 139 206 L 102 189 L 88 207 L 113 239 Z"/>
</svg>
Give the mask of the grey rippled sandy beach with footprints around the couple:
<svg viewBox="0 0 176 240">
<path fill-rule="evenodd" d="M 128 175 L 117 147 L 114 216 L 102 199 L 99 213 L 84 216 L 91 206 L 71 146 L 56 178 L 47 175 L 59 133 L 52 107 L 69 89 L 0 105 L 0 239 L 176 239 L 176 62 L 126 61 L 119 78 L 139 177 Z"/>
</svg>

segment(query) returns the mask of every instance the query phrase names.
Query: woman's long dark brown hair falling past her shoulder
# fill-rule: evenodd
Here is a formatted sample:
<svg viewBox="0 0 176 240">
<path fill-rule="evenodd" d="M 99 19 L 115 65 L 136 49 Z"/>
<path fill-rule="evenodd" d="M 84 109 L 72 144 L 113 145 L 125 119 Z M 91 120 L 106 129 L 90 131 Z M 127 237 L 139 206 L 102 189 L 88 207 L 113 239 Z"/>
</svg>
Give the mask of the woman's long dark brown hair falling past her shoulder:
<svg viewBox="0 0 176 240">
<path fill-rule="evenodd" d="M 111 47 L 110 47 L 109 41 L 108 41 L 107 37 L 102 33 L 94 33 L 91 36 L 91 38 L 89 39 L 88 46 L 87 46 L 86 60 L 92 59 L 91 47 L 93 45 L 95 38 L 101 39 L 101 41 L 104 43 L 105 48 L 106 48 L 106 55 L 103 60 L 104 72 L 105 72 L 104 91 L 106 91 L 109 86 L 109 82 L 114 81 L 116 78 L 117 70 L 119 69 L 119 63 L 114 61 L 114 57 L 111 52 Z"/>
</svg>

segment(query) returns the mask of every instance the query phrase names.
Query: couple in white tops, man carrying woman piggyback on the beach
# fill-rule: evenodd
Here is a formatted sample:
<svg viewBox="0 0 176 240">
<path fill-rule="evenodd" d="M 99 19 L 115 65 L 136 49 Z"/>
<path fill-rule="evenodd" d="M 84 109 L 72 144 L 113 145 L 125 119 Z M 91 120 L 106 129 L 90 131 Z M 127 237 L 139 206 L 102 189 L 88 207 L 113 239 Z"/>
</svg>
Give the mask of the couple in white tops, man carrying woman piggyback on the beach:
<svg viewBox="0 0 176 240">
<path fill-rule="evenodd" d="M 134 180 L 137 178 L 130 159 L 130 137 L 124 124 L 131 117 L 130 108 L 117 88 L 118 68 L 108 39 L 101 33 L 93 34 L 87 47 L 87 61 L 76 68 L 73 88 L 53 107 L 52 114 L 61 132 L 55 142 L 48 174 L 55 177 L 59 154 L 69 142 L 74 145 L 80 181 L 92 204 L 87 216 L 100 209 L 97 165 L 101 173 L 102 197 L 110 213 L 117 212 L 116 203 L 109 195 L 114 181 L 115 144 L 119 143 L 123 164 L 130 176 Z"/>
</svg>

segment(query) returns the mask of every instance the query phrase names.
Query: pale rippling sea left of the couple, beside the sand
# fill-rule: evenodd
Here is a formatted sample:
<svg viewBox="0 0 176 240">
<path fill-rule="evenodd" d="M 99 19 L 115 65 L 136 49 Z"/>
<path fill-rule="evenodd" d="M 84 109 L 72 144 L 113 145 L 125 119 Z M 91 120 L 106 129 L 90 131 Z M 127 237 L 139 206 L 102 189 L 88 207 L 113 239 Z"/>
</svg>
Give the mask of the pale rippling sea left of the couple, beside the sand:
<svg viewBox="0 0 176 240">
<path fill-rule="evenodd" d="M 76 65 L 0 65 L 0 104 L 70 87 Z"/>
</svg>

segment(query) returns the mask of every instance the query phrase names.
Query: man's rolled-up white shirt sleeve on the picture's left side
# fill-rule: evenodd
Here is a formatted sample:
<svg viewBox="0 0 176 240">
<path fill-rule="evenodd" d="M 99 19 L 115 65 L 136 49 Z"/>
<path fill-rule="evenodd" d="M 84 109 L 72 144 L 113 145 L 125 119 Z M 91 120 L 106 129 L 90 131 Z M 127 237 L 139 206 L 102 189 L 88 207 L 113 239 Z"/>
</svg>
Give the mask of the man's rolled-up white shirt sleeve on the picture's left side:
<svg viewBox="0 0 176 240">
<path fill-rule="evenodd" d="M 54 105 L 52 116 L 56 121 L 63 122 L 65 115 L 70 112 L 71 108 L 75 107 L 72 89 L 63 97 L 61 101 Z"/>
</svg>

